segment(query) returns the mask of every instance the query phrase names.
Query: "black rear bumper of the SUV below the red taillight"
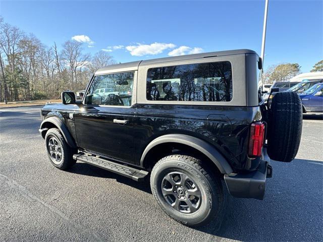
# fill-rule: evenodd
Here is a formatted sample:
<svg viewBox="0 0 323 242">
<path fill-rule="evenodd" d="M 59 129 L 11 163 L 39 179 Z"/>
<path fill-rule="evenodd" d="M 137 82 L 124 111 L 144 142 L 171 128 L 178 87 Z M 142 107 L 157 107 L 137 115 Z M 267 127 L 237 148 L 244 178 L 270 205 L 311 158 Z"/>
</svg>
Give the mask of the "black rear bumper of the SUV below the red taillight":
<svg viewBox="0 0 323 242">
<path fill-rule="evenodd" d="M 262 157 L 257 170 L 249 173 L 231 173 L 224 176 L 229 193 L 233 197 L 263 200 L 266 177 L 272 177 L 273 172 L 266 150 L 263 153 L 264 157 Z"/>
</svg>

